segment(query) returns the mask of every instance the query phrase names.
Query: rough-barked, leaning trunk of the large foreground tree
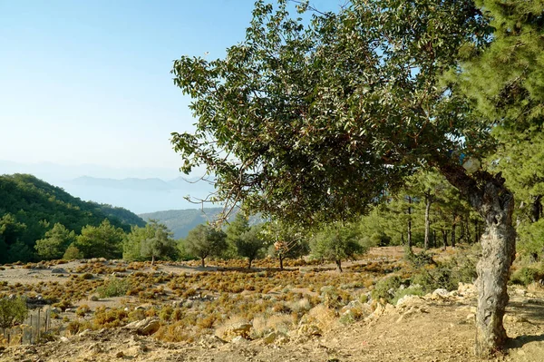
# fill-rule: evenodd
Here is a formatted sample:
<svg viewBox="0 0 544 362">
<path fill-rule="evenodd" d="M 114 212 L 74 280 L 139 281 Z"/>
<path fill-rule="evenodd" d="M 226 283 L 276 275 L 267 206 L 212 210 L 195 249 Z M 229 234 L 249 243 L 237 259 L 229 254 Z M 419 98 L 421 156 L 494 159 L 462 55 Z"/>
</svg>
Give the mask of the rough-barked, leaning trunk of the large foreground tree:
<svg viewBox="0 0 544 362">
<path fill-rule="evenodd" d="M 500 173 L 492 176 L 486 171 L 477 171 L 468 175 L 461 166 L 448 163 L 442 163 L 440 169 L 485 220 L 481 259 L 476 267 L 478 311 L 474 351 L 479 357 L 490 357 L 507 340 L 502 318 L 509 301 L 506 288 L 516 252 L 512 225 L 514 198 L 504 186 Z"/>
</svg>

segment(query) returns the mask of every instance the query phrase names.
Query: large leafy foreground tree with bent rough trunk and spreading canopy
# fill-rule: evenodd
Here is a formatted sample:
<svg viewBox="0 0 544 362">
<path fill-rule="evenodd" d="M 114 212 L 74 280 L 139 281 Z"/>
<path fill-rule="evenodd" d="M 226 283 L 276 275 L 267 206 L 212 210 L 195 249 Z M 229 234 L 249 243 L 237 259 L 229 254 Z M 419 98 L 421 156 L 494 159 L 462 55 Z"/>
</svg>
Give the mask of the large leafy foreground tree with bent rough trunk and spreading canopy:
<svg viewBox="0 0 544 362">
<path fill-rule="evenodd" d="M 470 0 L 354 0 L 308 26 L 287 1 L 257 2 L 225 59 L 174 62 L 198 118 L 196 132 L 172 133 L 182 170 L 206 165 L 223 201 L 316 221 L 349 219 L 434 167 L 485 220 L 476 352 L 489 355 L 507 338 L 514 201 L 479 167 L 500 117 L 475 107 L 458 75 L 491 31 Z"/>
</svg>

